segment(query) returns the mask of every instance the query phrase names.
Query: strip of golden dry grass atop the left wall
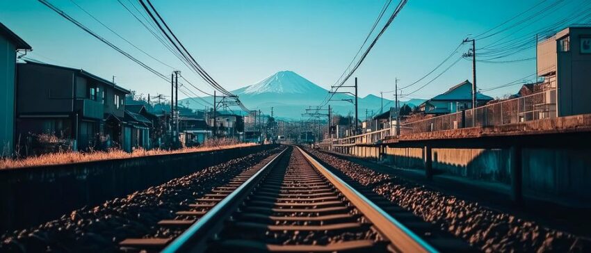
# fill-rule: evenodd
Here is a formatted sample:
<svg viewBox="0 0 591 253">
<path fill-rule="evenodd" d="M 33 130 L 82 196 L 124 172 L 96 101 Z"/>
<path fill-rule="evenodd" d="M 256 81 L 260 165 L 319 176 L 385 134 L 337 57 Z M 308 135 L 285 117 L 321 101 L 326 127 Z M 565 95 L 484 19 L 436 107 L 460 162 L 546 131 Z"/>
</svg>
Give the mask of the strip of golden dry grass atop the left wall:
<svg viewBox="0 0 591 253">
<path fill-rule="evenodd" d="M 57 165 L 67 163 L 81 163 L 88 161 L 102 161 L 109 159 L 119 158 L 132 158 L 139 156 L 156 156 L 161 154 L 181 154 L 191 152 L 203 152 L 218 149 L 231 149 L 234 147 L 248 147 L 256 145 L 254 143 L 242 143 L 235 140 L 220 139 L 220 140 L 209 140 L 204 142 L 202 145 L 197 147 L 185 147 L 176 150 L 165 150 L 165 149 L 152 149 L 146 150 L 142 148 L 134 149 L 133 152 L 127 153 L 120 149 L 113 149 L 108 152 L 58 152 L 53 154 L 43 154 L 41 156 L 23 158 L 23 159 L 11 159 L 2 158 L 0 160 L 1 169 L 11 168 L 24 168 L 39 165 Z"/>
</svg>

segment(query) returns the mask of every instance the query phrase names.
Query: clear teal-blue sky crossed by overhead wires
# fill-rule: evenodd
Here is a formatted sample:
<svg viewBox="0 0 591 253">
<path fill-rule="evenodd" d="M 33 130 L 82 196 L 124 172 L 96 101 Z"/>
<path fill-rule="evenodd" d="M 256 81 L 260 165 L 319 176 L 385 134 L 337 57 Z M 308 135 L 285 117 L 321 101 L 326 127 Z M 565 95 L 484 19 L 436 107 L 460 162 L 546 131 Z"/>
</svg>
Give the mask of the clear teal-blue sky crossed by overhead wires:
<svg viewBox="0 0 591 253">
<path fill-rule="evenodd" d="M 183 76 L 203 90 L 212 90 L 152 37 L 118 0 L 49 1 L 159 72 L 168 75 L 174 69 L 149 56 L 178 68 Z M 120 1 L 130 8 L 131 2 L 136 8 L 141 8 L 136 0 Z M 441 63 L 467 36 L 483 33 L 537 3 L 556 1 L 560 0 L 410 0 L 355 72 L 354 76 L 359 78 L 359 97 L 368 94 L 379 96 L 380 91 L 394 90 L 395 79 L 400 80 L 400 86 L 409 85 Z M 544 13 L 543 18 L 536 15 L 541 19 L 531 26 L 524 26 L 519 31 L 515 31 L 517 28 L 500 31 L 491 38 L 476 40 L 477 56 L 481 44 L 531 33 L 536 26 L 542 27 L 572 16 L 574 11 L 589 2 L 563 1 L 560 8 Z M 108 31 L 74 3 L 149 56 Z M 384 5 L 384 1 L 378 0 L 152 0 L 152 3 L 197 62 L 227 90 L 257 83 L 282 70 L 296 72 L 329 89 L 346 70 Z M 392 1 L 391 5 L 396 3 L 398 1 Z M 391 10 L 387 11 L 387 15 Z M 138 94 L 170 93 L 170 85 L 166 81 L 38 1 L 0 0 L 0 22 L 31 44 L 33 51 L 27 54 L 30 58 L 81 68 L 108 80 L 115 76 L 118 85 L 136 90 Z M 531 37 L 534 44 L 533 35 Z M 468 48 L 465 45 L 431 76 L 402 90 L 403 95 L 430 81 Z M 535 47 L 497 60 L 533 57 Z M 535 67 L 535 60 L 477 63 L 477 84 L 479 88 L 491 88 L 524 76 L 531 77 Z M 472 80 L 471 61 L 462 59 L 435 81 L 405 98 L 430 98 L 467 79 Z M 513 85 L 485 94 L 501 97 L 515 94 L 518 89 L 519 85 Z M 386 98 L 391 96 L 393 93 L 384 95 Z"/>
</svg>

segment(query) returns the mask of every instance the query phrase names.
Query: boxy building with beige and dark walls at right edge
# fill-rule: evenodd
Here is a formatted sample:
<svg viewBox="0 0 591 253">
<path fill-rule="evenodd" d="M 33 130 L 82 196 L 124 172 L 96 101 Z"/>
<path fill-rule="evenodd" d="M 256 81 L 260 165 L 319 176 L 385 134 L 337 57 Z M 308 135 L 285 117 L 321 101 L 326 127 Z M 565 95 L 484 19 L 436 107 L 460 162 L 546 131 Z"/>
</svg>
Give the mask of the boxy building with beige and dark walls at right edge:
<svg viewBox="0 0 591 253">
<path fill-rule="evenodd" d="M 544 101 L 537 111 L 568 116 L 591 113 L 591 27 L 569 27 L 537 44 L 537 74 L 544 78 Z M 555 97 L 556 96 L 556 97 Z M 558 104 L 557 108 L 553 108 Z"/>
</svg>

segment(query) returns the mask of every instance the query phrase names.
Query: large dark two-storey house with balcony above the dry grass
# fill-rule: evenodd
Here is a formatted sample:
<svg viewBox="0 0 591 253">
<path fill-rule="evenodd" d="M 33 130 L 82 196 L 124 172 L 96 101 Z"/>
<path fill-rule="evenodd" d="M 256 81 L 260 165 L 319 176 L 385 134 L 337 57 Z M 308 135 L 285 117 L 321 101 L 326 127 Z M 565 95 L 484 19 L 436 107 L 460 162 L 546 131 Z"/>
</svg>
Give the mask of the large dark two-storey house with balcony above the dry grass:
<svg viewBox="0 0 591 253">
<path fill-rule="evenodd" d="M 17 64 L 17 134 L 72 140 L 74 150 L 131 147 L 127 94 L 85 70 L 26 60 Z"/>
</svg>

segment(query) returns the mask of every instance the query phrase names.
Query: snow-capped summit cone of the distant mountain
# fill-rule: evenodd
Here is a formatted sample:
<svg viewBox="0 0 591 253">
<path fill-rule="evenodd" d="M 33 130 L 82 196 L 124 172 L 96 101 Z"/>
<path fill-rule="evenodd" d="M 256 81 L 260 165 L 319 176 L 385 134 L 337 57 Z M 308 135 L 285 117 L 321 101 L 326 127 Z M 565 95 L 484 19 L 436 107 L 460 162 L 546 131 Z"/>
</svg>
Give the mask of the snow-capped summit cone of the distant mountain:
<svg viewBox="0 0 591 253">
<path fill-rule="evenodd" d="M 263 81 L 248 86 L 243 94 L 261 94 L 261 93 L 282 93 L 282 94 L 305 94 L 322 90 L 323 88 L 303 78 L 299 74 L 283 70 L 268 76 Z"/>
</svg>

